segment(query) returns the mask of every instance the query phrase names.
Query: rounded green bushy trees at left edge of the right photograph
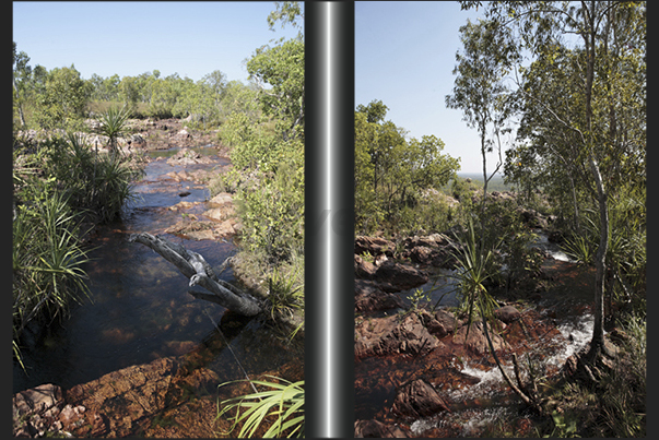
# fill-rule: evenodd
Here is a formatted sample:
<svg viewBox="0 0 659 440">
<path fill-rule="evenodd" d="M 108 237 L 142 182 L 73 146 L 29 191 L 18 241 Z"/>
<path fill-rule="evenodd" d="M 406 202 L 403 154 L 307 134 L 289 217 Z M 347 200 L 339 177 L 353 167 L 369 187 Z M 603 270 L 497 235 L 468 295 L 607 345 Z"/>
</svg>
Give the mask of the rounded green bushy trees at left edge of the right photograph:
<svg viewBox="0 0 659 440">
<path fill-rule="evenodd" d="M 355 228 L 361 234 L 425 228 L 417 209 L 424 193 L 445 186 L 459 169 L 458 159 L 442 154 L 442 140 L 405 140 L 402 128 L 384 121 L 386 111 L 381 102 L 355 111 Z"/>
</svg>

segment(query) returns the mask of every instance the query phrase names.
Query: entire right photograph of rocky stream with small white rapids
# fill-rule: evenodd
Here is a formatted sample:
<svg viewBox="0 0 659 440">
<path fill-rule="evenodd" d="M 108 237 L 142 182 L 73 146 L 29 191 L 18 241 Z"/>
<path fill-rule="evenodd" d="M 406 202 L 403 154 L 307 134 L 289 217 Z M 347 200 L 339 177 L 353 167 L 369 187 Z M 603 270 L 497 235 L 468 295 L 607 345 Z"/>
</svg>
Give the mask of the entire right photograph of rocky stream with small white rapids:
<svg viewBox="0 0 659 440">
<path fill-rule="evenodd" d="M 646 437 L 646 24 L 355 2 L 355 437 Z"/>
</svg>

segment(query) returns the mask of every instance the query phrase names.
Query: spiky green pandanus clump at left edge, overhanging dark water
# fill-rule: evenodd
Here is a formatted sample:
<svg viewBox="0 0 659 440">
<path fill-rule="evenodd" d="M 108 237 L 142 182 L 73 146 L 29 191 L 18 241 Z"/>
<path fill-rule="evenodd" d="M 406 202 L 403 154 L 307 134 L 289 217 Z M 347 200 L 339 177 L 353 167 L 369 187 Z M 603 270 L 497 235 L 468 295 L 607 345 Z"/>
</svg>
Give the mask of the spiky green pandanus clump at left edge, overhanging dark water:
<svg viewBox="0 0 659 440">
<path fill-rule="evenodd" d="M 54 180 L 31 179 L 17 194 L 13 219 L 13 350 L 21 361 L 19 340 L 32 320 L 52 320 L 71 300 L 87 295 L 89 261 L 79 241 L 79 223 Z M 22 362 L 21 362 L 22 364 Z"/>
</svg>

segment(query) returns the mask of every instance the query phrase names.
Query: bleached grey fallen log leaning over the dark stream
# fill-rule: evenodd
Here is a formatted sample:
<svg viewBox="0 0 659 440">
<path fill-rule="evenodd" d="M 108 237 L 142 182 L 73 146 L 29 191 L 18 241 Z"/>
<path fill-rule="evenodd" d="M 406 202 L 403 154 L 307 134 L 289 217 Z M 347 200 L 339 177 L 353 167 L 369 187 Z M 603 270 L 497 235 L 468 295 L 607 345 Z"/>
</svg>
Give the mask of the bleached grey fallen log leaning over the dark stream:
<svg viewBox="0 0 659 440">
<path fill-rule="evenodd" d="M 137 241 L 153 249 L 186 275 L 190 280 L 190 286 L 199 285 L 212 294 L 189 292 L 196 298 L 216 302 L 246 317 L 254 317 L 262 311 L 257 298 L 220 280 L 201 254 L 148 233 L 132 234 L 128 241 Z"/>
</svg>

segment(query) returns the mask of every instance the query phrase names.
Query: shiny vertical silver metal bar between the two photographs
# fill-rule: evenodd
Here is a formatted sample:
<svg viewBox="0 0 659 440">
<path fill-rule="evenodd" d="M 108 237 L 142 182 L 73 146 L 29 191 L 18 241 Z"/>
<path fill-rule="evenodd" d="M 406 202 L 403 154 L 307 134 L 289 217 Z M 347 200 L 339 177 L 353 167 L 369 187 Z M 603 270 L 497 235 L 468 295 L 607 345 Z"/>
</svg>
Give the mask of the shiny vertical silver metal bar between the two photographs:
<svg viewBox="0 0 659 440">
<path fill-rule="evenodd" d="M 354 3 L 305 3 L 305 435 L 354 436 Z"/>
</svg>

